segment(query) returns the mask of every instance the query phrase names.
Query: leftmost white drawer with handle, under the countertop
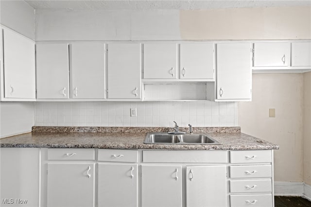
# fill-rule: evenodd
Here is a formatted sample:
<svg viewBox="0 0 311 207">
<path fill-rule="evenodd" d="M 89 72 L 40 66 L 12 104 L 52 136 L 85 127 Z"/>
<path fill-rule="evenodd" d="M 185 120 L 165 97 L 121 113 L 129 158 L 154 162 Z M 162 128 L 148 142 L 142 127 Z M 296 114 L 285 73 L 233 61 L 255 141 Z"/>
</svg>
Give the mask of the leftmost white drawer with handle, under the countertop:
<svg viewBox="0 0 311 207">
<path fill-rule="evenodd" d="M 94 149 L 60 148 L 48 149 L 49 160 L 94 160 Z"/>
</svg>

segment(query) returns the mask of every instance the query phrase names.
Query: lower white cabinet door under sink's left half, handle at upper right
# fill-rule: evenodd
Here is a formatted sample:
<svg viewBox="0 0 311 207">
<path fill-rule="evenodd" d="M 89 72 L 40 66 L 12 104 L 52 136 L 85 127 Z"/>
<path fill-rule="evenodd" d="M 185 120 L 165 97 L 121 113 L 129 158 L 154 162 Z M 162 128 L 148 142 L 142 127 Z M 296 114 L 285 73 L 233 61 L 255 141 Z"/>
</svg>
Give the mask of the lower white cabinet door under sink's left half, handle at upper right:
<svg viewBox="0 0 311 207">
<path fill-rule="evenodd" d="M 181 166 L 141 166 L 143 207 L 182 207 Z"/>
</svg>

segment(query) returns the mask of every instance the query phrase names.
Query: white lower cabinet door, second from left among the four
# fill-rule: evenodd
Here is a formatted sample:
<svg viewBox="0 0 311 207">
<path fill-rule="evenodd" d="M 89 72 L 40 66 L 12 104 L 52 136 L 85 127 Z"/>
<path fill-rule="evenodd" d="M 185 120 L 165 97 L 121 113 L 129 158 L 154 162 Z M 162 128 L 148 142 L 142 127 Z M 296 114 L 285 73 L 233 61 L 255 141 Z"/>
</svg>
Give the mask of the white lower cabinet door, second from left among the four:
<svg viewBox="0 0 311 207">
<path fill-rule="evenodd" d="M 137 164 L 98 164 L 98 207 L 137 207 L 137 171 Z"/>
</svg>

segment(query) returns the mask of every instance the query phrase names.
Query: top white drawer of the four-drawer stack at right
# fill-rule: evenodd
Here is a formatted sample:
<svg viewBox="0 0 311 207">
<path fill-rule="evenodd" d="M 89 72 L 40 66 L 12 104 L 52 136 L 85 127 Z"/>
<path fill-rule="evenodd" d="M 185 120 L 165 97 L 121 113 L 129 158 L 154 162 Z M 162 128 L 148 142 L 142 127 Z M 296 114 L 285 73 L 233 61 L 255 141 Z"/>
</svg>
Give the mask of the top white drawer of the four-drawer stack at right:
<svg viewBox="0 0 311 207">
<path fill-rule="evenodd" d="M 230 151 L 230 162 L 272 162 L 271 150 Z"/>
</svg>

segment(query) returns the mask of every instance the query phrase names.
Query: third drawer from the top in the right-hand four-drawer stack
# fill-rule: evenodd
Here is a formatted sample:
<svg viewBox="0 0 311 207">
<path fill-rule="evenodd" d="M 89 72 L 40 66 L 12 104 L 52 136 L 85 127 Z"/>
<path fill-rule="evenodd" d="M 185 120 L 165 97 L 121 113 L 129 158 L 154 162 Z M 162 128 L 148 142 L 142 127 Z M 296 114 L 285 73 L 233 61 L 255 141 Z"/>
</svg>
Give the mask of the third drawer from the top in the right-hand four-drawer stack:
<svg viewBox="0 0 311 207">
<path fill-rule="evenodd" d="M 272 181 L 266 180 L 230 180 L 230 192 L 271 192 Z"/>
</svg>

